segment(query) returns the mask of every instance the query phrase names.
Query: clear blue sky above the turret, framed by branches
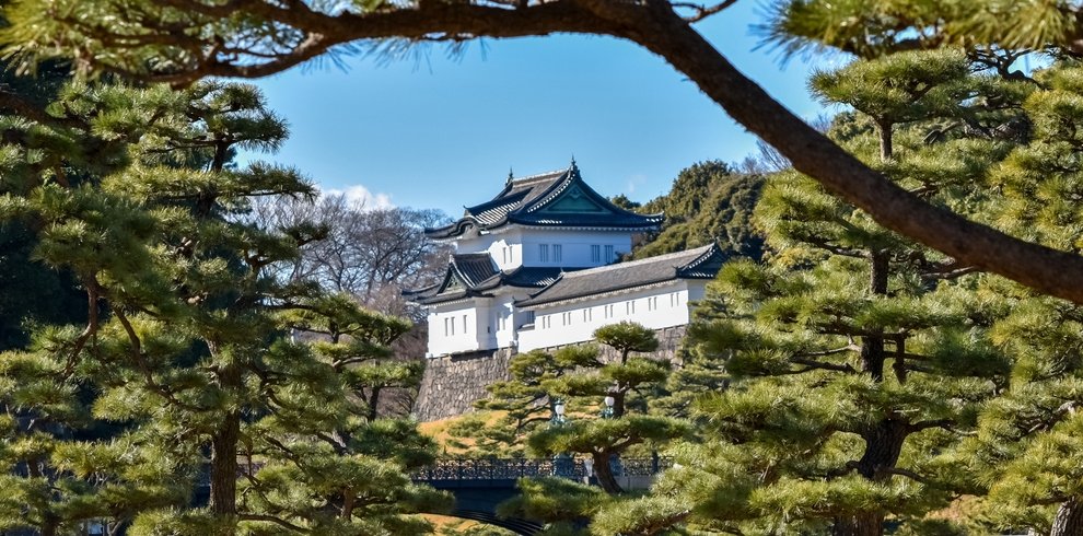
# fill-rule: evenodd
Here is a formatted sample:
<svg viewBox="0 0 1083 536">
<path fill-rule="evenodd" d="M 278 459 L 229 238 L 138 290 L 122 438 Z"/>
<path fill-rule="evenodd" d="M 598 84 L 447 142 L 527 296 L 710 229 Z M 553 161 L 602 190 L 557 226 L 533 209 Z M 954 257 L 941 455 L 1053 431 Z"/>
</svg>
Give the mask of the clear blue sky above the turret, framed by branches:
<svg viewBox="0 0 1083 536">
<path fill-rule="evenodd" d="M 782 66 L 768 47 L 754 50 L 760 13 L 757 0 L 741 0 L 698 30 L 797 115 L 819 115 L 805 60 Z M 540 173 L 572 155 L 603 195 L 645 201 L 695 162 L 755 151 L 755 139 L 691 82 L 613 38 L 488 39 L 456 58 L 432 48 L 419 61 L 350 58 L 345 71 L 325 63 L 257 82 L 291 138 L 256 158 L 294 165 L 324 189 L 370 193 L 373 202 L 458 215 L 497 194 L 509 168 Z"/>
</svg>

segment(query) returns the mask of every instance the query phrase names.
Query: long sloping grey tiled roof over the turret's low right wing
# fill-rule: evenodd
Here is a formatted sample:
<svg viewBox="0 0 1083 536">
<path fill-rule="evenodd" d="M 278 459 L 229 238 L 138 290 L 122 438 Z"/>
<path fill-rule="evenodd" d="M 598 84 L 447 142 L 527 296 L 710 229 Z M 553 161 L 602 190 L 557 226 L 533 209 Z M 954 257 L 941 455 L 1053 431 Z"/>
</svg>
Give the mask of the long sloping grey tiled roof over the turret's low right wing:
<svg viewBox="0 0 1083 536">
<path fill-rule="evenodd" d="M 725 260 L 718 246 L 711 244 L 631 263 L 566 272 L 557 282 L 515 304 L 543 305 L 676 279 L 711 279 Z"/>
</svg>

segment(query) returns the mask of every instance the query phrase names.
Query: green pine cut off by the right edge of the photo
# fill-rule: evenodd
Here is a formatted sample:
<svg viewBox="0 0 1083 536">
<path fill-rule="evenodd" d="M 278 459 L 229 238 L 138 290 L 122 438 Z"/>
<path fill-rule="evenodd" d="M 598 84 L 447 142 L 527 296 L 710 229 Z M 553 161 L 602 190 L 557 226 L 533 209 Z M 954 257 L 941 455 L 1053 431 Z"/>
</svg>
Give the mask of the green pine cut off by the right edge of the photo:
<svg viewBox="0 0 1083 536">
<path fill-rule="evenodd" d="M 1016 148 L 990 177 L 1003 193 L 987 219 L 1013 233 L 1079 254 L 1083 185 L 1078 147 L 1083 125 L 1083 68 L 1068 62 L 1038 72 L 1043 89 L 1024 103 L 1034 141 Z M 995 284 L 992 284 L 995 283 Z M 981 413 L 979 434 L 963 448 L 988 485 L 981 509 L 995 528 L 1051 536 L 1083 531 L 1076 407 L 1083 404 L 1083 311 L 991 281 L 1012 303 L 994 340 L 1015 358 L 1011 385 Z"/>
</svg>

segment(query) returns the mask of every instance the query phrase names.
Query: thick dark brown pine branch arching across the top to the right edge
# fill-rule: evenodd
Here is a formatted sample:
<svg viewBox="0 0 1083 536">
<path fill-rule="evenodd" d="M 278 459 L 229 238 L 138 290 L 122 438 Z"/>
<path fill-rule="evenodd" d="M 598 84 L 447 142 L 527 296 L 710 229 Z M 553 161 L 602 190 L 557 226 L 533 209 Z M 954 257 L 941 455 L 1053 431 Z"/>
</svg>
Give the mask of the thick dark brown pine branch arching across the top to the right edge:
<svg viewBox="0 0 1083 536">
<path fill-rule="evenodd" d="M 119 61 L 107 56 L 90 55 L 80 59 L 100 70 L 131 69 L 137 71 L 131 73 L 137 78 L 188 84 L 205 77 L 266 77 L 325 54 L 333 46 L 351 42 L 375 43 L 396 38 L 414 43 L 465 40 L 539 36 L 557 32 L 624 38 L 665 59 L 734 119 L 777 148 L 794 168 L 866 211 L 881 225 L 939 249 L 965 266 L 998 273 L 1039 292 L 1083 303 L 1083 257 L 1015 238 L 907 193 L 771 98 L 666 1 L 552 0 L 517 2 L 514 8 L 506 2 L 421 1 L 411 7 L 386 4 L 363 13 L 334 15 L 317 12 L 302 2 L 272 4 L 232 0 L 208 4 L 193 0 L 158 1 L 207 16 L 236 19 L 238 13 L 247 13 L 254 20 L 266 20 L 267 24 L 290 26 L 303 38 L 287 43 L 283 45 L 288 48 L 286 51 L 267 61 L 253 62 L 252 58 L 238 58 L 236 55 L 203 54 L 196 55 L 189 62 L 168 62 L 168 72 L 147 72 L 143 70 L 147 69 L 145 62 L 139 66 L 103 63 Z M 202 27 L 207 22 L 193 22 L 191 28 L 197 25 Z M 147 32 L 186 35 L 177 32 L 176 23 L 172 21 L 139 23 Z M 85 27 L 80 30 L 86 31 Z M 211 34 L 206 39 L 207 49 L 212 49 L 211 45 L 228 37 L 236 36 Z M 925 45 L 930 43 L 924 36 L 922 40 Z M 183 45 L 176 44 L 178 54 L 184 49 Z M 257 51 L 265 50 L 257 48 Z"/>
</svg>

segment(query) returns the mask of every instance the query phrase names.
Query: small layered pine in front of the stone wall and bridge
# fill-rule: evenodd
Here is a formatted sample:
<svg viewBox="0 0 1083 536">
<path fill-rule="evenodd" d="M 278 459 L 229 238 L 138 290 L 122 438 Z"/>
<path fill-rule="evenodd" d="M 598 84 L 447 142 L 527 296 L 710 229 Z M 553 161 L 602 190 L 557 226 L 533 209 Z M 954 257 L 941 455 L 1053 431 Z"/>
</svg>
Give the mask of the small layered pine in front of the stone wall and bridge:
<svg viewBox="0 0 1083 536">
<path fill-rule="evenodd" d="M 620 456 L 690 433 L 684 421 L 650 412 L 649 403 L 664 395 L 671 371 L 668 362 L 637 356 L 657 349 L 651 329 L 624 322 L 598 328 L 594 338 L 607 351 L 575 346 L 512 358 L 512 380 L 491 385 L 490 397 L 478 403 L 506 416 L 488 428 L 481 420 L 467 420 L 457 431 L 489 445 L 488 452 L 499 442 L 525 441 L 534 455 L 555 463 L 575 455 L 590 461 L 603 492 L 561 478 L 523 480 L 522 497 L 502 508 L 547 522 L 546 534 L 579 534 L 577 526 L 604 505 L 628 500 L 614 473 Z M 558 403 L 566 405 L 567 419 L 555 412 Z"/>
</svg>

